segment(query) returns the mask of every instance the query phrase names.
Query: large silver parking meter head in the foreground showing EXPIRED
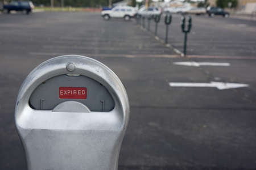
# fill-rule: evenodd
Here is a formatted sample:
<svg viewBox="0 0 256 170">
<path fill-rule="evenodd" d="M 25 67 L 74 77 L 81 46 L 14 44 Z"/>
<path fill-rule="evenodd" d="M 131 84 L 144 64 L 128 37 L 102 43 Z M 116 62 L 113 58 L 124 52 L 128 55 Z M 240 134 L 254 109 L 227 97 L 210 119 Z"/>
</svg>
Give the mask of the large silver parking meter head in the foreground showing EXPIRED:
<svg viewBox="0 0 256 170">
<path fill-rule="evenodd" d="M 28 169 L 117 169 L 129 121 L 117 75 L 83 56 L 36 67 L 20 87 L 15 123 Z"/>
</svg>

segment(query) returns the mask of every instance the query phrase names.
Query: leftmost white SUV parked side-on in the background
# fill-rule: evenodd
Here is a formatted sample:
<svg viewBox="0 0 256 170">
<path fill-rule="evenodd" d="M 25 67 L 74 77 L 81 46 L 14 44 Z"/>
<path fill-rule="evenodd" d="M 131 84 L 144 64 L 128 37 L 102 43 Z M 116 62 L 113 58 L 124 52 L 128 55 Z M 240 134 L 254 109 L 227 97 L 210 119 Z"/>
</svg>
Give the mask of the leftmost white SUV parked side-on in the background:
<svg viewBox="0 0 256 170">
<path fill-rule="evenodd" d="M 104 20 L 109 20 L 110 18 L 123 18 L 125 21 L 129 21 L 136 14 L 134 7 L 130 6 L 116 6 L 112 10 L 101 11 L 101 16 Z"/>
</svg>

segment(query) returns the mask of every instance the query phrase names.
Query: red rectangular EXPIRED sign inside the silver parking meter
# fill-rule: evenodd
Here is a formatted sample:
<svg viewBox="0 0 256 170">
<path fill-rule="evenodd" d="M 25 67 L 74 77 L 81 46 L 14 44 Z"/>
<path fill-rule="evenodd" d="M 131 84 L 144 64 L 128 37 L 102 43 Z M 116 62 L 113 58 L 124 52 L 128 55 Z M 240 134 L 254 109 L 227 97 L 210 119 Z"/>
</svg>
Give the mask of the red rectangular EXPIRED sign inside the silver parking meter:
<svg viewBox="0 0 256 170">
<path fill-rule="evenodd" d="M 86 99 L 87 89 L 85 87 L 60 87 L 60 99 Z"/>
</svg>

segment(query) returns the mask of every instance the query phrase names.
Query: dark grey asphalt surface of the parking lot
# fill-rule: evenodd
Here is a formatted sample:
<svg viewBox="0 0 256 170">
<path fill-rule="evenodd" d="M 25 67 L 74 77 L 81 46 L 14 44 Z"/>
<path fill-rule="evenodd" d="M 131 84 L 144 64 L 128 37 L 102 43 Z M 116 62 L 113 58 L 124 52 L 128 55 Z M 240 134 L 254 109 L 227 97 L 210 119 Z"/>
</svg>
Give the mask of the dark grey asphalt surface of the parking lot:
<svg viewBox="0 0 256 170">
<path fill-rule="evenodd" d="M 255 169 L 256 23 L 192 19 L 181 57 L 180 15 L 169 45 L 163 18 L 157 38 L 152 20 L 147 31 L 135 19 L 104 21 L 98 13 L 0 15 L 0 169 L 26 169 L 14 123 L 19 87 L 40 63 L 64 54 L 97 59 L 126 88 L 131 112 L 118 169 Z"/>
</svg>

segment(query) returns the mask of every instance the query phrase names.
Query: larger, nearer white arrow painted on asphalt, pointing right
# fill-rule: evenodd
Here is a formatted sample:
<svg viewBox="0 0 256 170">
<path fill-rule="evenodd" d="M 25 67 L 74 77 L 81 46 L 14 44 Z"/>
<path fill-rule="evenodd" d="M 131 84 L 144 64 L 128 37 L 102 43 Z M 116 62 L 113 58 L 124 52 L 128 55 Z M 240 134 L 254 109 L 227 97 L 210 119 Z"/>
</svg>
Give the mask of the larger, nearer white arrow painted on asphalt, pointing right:
<svg viewBox="0 0 256 170">
<path fill-rule="evenodd" d="M 223 82 L 210 82 L 210 83 L 168 83 L 171 87 L 216 87 L 218 90 L 225 90 L 229 88 L 248 87 L 249 84 L 238 83 L 223 83 Z"/>
</svg>

